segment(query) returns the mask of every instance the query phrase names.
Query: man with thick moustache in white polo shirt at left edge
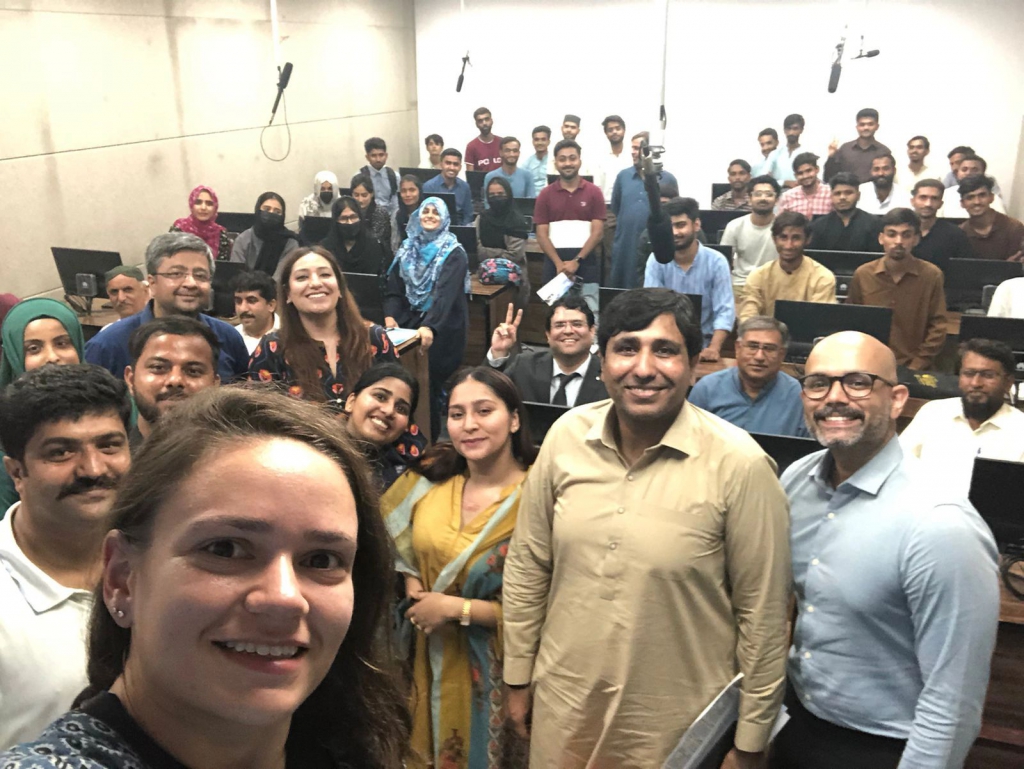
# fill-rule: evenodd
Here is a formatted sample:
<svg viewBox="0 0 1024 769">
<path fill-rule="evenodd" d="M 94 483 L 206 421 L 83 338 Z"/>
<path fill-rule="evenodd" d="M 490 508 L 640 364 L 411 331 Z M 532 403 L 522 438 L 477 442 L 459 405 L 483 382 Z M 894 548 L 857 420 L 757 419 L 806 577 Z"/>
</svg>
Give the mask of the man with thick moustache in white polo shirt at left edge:
<svg viewBox="0 0 1024 769">
<path fill-rule="evenodd" d="M 22 498 L 0 520 L 0 752 L 38 737 L 86 686 L 130 417 L 124 382 L 87 364 L 35 369 L 0 394 L 4 468 Z"/>
</svg>

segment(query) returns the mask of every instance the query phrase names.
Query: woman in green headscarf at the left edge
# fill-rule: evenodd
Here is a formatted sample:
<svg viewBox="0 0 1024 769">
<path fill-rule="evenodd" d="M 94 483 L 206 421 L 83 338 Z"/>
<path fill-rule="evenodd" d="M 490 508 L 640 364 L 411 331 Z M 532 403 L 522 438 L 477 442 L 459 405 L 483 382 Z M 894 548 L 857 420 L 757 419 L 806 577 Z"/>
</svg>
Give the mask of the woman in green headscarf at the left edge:
<svg viewBox="0 0 1024 769">
<path fill-rule="evenodd" d="M 66 366 L 85 360 L 82 325 L 71 307 L 55 299 L 26 299 L 15 304 L 3 319 L 0 338 L 0 389 L 46 364 Z M 0 448 L 0 518 L 18 500 L 14 482 L 4 469 L 3 456 Z"/>
</svg>

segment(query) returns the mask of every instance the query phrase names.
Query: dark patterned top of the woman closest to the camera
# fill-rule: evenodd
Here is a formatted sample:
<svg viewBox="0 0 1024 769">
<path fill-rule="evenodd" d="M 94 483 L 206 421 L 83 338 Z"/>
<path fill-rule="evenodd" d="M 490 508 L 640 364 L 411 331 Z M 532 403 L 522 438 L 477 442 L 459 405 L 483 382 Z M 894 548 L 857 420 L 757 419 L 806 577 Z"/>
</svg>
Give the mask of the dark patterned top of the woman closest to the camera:
<svg viewBox="0 0 1024 769">
<path fill-rule="evenodd" d="M 323 749 L 285 746 L 285 763 L 301 769 L 338 764 Z M 46 727 L 39 738 L 0 754 L 2 769 L 188 769 L 128 714 L 121 700 L 103 692 Z"/>
</svg>

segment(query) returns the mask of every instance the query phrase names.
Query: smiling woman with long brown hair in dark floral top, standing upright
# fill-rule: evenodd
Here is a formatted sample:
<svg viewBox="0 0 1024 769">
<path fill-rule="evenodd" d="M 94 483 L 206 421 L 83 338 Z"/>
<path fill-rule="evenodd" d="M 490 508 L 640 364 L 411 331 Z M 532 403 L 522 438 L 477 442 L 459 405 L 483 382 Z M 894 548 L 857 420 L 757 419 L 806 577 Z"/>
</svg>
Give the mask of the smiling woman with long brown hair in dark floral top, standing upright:
<svg viewBox="0 0 1024 769">
<path fill-rule="evenodd" d="M 374 361 L 397 360 L 380 326 L 367 328 L 338 261 L 318 246 L 293 251 L 278 282 L 281 329 L 263 337 L 249 379 L 341 411 L 351 385 Z"/>
</svg>

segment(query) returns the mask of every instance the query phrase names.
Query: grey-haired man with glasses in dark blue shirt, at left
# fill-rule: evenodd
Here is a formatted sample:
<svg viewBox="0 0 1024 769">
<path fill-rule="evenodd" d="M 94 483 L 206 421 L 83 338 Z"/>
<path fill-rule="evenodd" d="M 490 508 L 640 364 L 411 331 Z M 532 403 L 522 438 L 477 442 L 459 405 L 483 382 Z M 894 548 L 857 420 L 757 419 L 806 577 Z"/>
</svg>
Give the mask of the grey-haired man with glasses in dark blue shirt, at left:
<svg viewBox="0 0 1024 769">
<path fill-rule="evenodd" d="M 85 345 L 85 359 L 124 378 L 131 362 L 128 339 L 139 326 L 155 317 L 187 315 L 208 327 L 220 342 L 217 374 L 226 383 L 245 374 L 249 353 L 234 327 L 201 312 L 210 303 L 213 256 L 202 239 L 187 232 L 157 236 L 145 250 L 145 268 L 153 299 L 134 315 L 108 326 Z"/>
</svg>

